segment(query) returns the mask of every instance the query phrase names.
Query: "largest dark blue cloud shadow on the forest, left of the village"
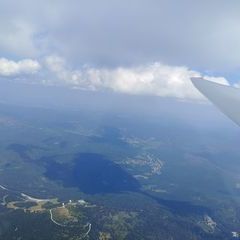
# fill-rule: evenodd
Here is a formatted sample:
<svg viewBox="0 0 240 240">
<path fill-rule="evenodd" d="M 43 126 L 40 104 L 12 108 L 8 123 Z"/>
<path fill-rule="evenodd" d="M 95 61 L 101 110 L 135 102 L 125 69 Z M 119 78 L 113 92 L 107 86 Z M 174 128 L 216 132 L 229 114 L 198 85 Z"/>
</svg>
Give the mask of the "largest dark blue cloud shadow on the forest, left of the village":
<svg viewBox="0 0 240 240">
<path fill-rule="evenodd" d="M 78 154 L 69 164 L 50 160 L 45 175 L 88 194 L 138 191 L 140 188 L 138 181 L 119 165 L 93 153 Z"/>
</svg>

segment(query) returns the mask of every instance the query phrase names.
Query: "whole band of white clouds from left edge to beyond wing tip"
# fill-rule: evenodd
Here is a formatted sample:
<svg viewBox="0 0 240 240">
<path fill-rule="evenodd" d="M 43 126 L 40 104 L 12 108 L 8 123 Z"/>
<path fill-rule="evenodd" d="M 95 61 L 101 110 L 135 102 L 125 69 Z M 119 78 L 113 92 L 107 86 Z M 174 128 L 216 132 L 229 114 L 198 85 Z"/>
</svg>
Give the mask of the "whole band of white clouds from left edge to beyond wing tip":
<svg viewBox="0 0 240 240">
<path fill-rule="evenodd" d="M 66 86 L 90 91 L 113 91 L 133 95 L 154 95 L 181 99 L 203 99 L 190 78 L 205 79 L 229 85 L 223 77 L 210 77 L 185 66 L 169 66 L 159 62 L 135 67 L 73 69 L 66 60 L 50 55 L 40 62 L 23 59 L 15 62 L 0 59 L 0 76 L 24 83 Z"/>
</svg>

